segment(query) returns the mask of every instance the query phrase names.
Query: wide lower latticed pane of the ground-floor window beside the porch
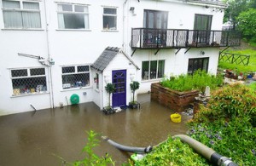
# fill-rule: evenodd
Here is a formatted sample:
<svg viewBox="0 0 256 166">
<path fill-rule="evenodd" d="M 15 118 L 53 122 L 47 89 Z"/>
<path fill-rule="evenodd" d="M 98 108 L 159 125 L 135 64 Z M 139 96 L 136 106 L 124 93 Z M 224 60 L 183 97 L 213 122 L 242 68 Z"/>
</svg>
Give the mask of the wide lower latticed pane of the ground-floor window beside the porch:
<svg viewBox="0 0 256 166">
<path fill-rule="evenodd" d="M 62 75 L 62 88 L 79 88 L 90 85 L 90 74 L 81 73 L 81 74 L 70 74 Z"/>
</svg>

